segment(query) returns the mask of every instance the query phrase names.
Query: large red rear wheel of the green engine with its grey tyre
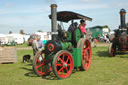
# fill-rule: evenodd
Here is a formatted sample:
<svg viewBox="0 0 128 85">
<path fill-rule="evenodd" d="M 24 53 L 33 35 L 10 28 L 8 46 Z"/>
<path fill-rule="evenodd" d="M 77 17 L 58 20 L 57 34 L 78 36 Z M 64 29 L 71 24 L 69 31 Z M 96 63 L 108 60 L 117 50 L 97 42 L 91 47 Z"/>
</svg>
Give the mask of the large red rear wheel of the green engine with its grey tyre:
<svg viewBox="0 0 128 85">
<path fill-rule="evenodd" d="M 88 70 L 91 64 L 91 45 L 88 39 L 82 38 L 78 42 L 78 48 L 82 49 L 80 70 Z"/>
</svg>

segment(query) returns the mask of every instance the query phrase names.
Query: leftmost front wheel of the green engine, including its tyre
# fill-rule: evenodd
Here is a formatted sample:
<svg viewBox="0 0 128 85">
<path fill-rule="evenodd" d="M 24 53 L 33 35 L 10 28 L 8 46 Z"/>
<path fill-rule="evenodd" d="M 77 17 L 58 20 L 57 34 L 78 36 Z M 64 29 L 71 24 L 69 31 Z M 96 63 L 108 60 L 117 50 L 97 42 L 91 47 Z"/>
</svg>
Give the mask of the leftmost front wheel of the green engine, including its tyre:
<svg viewBox="0 0 128 85">
<path fill-rule="evenodd" d="M 37 75 L 47 75 L 51 72 L 51 65 L 44 60 L 45 54 L 38 52 L 33 59 L 33 68 Z"/>
</svg>

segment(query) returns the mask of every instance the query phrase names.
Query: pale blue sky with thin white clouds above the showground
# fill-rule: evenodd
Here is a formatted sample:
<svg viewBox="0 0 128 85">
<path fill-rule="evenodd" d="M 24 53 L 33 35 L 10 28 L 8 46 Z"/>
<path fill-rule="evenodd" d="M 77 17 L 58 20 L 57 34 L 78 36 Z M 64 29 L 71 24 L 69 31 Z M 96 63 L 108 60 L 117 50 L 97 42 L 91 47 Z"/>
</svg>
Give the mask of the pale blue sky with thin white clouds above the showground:
<svg viewBox="0 0 128 85">
<path fill-rule="evenodd" d="M 87 22 L 87 27 L 108 25 L 112 30 L 117 29 L 120 9 L 128 12 L 128 0 L 0 0 L 0 33 L 19 33 L 21 29 L 25 33 L 51 31 L 48 15 L 54 3 L 57 11 L 73 11 L 91 17 L 93 20 Z M 69 24 L 64 23 L 65 30 Z"/>
</svg>

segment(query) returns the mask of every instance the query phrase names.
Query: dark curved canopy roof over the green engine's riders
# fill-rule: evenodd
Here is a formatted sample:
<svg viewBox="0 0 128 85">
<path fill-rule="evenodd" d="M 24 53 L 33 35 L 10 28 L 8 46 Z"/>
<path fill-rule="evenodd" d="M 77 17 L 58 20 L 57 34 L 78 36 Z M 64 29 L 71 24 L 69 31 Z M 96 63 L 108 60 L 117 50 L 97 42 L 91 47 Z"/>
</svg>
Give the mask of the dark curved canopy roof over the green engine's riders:
<svg viewBox="0 0 128 85">
<path fill-rule="evenodd" d="M 51 15 L 49 15 L 49 18 L 51 19 Z M 75 19 L 85 19 L 88 21 L 92 21 L 92 18 L 75 13 L 75 12 L 71 12 L 71 11 L 57 12 L 57 21 L 68 22 L 70 20 L 75 20 Z"/>
</svg>

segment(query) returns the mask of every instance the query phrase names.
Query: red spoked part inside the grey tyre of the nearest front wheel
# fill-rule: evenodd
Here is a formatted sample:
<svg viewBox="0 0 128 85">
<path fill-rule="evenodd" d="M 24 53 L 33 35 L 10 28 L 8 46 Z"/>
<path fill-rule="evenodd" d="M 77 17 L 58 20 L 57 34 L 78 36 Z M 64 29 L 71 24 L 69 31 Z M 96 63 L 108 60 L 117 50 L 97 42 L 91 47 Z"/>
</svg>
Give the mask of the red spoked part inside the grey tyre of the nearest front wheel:
<svg viewBox="0 0 128 85">
<path fill-rule="evenodd" d="M 61 78 L 70 76 L 73 69 L 72 56 L 66 52 L 61 53 L 56 59 L 56 71 Z"/>
</svg>

